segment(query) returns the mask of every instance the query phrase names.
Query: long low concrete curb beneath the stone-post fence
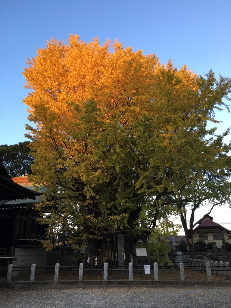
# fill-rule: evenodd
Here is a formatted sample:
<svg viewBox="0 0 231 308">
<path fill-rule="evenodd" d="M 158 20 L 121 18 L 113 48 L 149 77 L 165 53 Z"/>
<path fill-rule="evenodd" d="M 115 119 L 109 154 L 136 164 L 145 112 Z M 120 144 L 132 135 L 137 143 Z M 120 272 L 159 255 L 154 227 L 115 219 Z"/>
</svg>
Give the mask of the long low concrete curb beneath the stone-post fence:
<svg viewBox="0 0 231 308">
<path fill-rule="evenodd" d="M 67 288 L 110 288 L 110 287 L 231 287 L 231 281 L 153 281 L 153 280 L 82 280 L 82 281 L 10 281 L 8 289 L 67 289 Z"/>
</svg>

